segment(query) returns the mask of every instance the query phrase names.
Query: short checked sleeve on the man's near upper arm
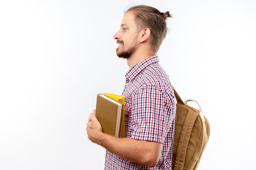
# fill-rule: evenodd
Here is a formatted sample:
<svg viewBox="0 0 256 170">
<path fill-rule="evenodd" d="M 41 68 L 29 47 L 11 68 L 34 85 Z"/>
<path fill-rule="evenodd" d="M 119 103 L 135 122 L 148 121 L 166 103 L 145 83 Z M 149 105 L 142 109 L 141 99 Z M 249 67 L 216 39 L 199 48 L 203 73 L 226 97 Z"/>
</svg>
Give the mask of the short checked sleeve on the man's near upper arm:
<svg viewBox="0 0 256 170">
<path fill-rule="evenodd" d="M 132 96 L 132 139 L 164 143 L 166 134 L 166 99 L 155 86 L 140 88 Z"/>
</svg>

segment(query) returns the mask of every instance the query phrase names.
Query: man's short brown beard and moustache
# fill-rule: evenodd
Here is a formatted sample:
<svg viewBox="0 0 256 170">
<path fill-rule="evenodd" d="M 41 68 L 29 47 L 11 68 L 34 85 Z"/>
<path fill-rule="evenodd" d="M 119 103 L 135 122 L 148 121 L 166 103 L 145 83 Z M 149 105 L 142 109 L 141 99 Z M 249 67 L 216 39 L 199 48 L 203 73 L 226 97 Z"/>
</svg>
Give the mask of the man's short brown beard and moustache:
<svg viewBox="0 0 256 170">
<path fill-rule="evenodd" d="M 135 44 L 135 40 L 133 40 L 131 46 L 128 49 L 124 49 L 124 42 L 117 40 L 117 43 L 121 43 L 123 46 L 123 49 L 116 50 L 117 56 L 119 58 L 124 58 L 127 59 L 129 58 L 133 53 L 135 53 L 135 51 L 137 50 L 137 45 Z"/>
</svg>

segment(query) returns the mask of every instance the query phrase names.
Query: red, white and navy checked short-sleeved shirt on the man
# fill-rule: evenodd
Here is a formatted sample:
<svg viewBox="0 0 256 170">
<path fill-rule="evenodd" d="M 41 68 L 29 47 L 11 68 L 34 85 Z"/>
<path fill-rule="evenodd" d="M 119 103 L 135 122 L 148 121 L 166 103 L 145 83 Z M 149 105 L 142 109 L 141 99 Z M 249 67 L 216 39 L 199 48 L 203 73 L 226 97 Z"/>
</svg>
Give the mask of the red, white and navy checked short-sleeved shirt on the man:
<svg viewBox="0 0 256 170">
<path fill-rule="evenodd" d="M 106 151 L 105 170 L 171 170 L 176 104 L 168 75 L 157 55 L 126 73 L 126 137 L 164 144 L 157 166 L 150 168 Z"/>
</svg>

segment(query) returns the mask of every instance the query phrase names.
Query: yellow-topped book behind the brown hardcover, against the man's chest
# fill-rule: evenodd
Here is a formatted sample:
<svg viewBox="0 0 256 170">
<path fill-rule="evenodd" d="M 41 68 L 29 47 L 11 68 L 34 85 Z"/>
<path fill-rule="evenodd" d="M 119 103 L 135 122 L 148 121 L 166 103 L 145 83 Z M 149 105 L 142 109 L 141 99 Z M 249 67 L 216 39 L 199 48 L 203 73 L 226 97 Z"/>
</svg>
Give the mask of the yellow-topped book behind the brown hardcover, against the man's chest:
<svg viewBox="0 0 256 170">
<path fill-rule="evenodd" d="M 104 93 L 104 95 L 123 104 L 121 120 L 120 120 L 120 128 L 119 128 L 119 137 L 125 137 L 125 97 L 121 95 L 111 94 L 111 93 Z"/>
</svg>

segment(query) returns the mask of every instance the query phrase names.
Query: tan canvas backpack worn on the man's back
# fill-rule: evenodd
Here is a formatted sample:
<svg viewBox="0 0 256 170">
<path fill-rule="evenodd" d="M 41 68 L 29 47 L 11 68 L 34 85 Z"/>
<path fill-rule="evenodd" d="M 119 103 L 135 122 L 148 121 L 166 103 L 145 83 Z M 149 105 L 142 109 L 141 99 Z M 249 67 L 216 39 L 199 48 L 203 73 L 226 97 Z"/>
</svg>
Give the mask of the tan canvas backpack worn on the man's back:
<svg viewBox="0 0 256 170">
<path fill-rule="evenodd" d="M 209 122 L 198 102 L 183 102 L 175 89 L 174 93 L 177 107 L 172 170 L 196 170 L 209 139 Z M 189 101 L 196 102 L 200 109 L 186 104 Z"/>
</svg>

